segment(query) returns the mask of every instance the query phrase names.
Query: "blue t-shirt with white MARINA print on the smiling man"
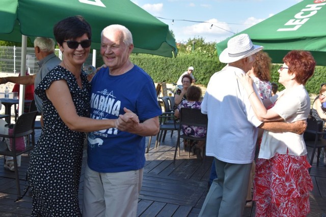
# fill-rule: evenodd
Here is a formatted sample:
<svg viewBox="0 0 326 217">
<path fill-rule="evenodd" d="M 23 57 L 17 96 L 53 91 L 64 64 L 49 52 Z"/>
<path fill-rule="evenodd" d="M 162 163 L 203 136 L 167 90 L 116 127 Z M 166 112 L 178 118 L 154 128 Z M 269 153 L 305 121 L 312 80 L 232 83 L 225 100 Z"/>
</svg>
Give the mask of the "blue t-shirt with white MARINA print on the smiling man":
<svg viewBox="0 0 326 217">
<path fill-rule="evenodd" d="M 103 68 L 93 77 L 91 118 L 117 119 L 126 107 L 139 116 L 140 122 L 161 114 L 155 85 L 138 66 L 111 76 Z M 97 172 L 138 170 L 145 165 L 145 137 L 116 128 L 89 133 L 88 166 Z"/>
</svg>

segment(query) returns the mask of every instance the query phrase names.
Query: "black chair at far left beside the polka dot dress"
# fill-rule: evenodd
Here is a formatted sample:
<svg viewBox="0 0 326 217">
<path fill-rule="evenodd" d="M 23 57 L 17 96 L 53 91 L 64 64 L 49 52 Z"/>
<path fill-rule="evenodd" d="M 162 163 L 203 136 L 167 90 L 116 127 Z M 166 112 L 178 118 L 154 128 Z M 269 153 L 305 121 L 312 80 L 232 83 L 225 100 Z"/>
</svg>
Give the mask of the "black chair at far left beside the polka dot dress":
<svg viewBox="0 0 326 217">
<path fill-rule="evenodd" d="M 34 133 L 34 121 L 37 115 L 37 111 L 23 113 L 17 118 L 17 121 L 14 125 L 13 132 L 11 135 L 0 134 L 0 137 L 11 138 L 12 139 L 12 150 L 9 150 L 7 147 L 6 141 L 0 142 L 0 154 L 4 156 L 11 156 L 14 158 L 14 167 L 15 167 L 15 177 L 17 185 L 17 195 L 20 196 L 20 185 L 19 185 L 19 174 L 18 174 L 18 165 L 17 165 L 17 156 L 22 153 L 28 152 L 34 148 L 35 145 L 35 133 Z M 28 140 L 28 144 L 24 150 L 16 150 L 16 139 L 23 136 L 32 135 L 32 142 Z M 4 158 L 5 160 L 5 158 Z M 6 160 L 5 160 L 6 161 Z"/>
</svg>

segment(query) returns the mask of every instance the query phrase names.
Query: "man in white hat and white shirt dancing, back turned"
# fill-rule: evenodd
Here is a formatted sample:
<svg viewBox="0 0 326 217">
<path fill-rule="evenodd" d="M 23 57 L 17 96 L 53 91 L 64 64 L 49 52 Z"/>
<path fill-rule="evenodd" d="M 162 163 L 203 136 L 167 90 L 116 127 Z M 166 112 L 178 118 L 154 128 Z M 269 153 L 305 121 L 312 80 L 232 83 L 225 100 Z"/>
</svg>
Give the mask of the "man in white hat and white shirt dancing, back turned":
<svg viewBox="0 0 326 217">
<path fill-rule="evenodd" d="M 263 123 L 255 116 L 249 98 L 257 89 L 248 96 L 237 76 L 251 69 L 255 53 L 262 49 L 253 45 L 247 34 L 231 38 L 220 55 L 220 61 L 228 65 L 208 83 L 201 111 L 208 115 L 206 155 L 214 157 L 218 178 L 213 180 L 199 216 L 242 216 L 257 128 L 298 134 L 306 129 L 305 121 Z"/>
</svg>

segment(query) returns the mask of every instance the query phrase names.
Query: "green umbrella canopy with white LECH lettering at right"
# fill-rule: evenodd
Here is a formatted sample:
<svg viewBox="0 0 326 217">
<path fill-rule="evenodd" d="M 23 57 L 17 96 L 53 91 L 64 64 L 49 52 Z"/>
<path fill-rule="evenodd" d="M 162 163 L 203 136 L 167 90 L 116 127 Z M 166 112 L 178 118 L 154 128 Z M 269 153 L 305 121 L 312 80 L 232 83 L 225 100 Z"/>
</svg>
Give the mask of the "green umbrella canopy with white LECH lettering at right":
<svg viewBox="0 0 326 217">
<path fill-rule="evenodd" d="M 307 50 L 318 66 L 326 66 L 326 0 L 304 0 L 238 33 L 264 46 L 273 63 L 283 63 L 290 50 Z M 215 45 L 218 54 L 230 38 Z"/>
</svg>

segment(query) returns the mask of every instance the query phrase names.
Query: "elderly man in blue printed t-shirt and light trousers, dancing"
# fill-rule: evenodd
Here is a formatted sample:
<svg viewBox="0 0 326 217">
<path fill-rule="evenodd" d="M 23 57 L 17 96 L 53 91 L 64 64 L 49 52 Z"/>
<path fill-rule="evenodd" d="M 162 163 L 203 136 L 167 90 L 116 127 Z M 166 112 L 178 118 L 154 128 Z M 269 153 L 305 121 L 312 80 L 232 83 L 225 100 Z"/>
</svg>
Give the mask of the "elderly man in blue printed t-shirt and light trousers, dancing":
<svg viewBox="0 0 326 217">
<path fill-rule="evenodd" d="M 91 81 L 91 117 L 120 117 L 121 121 L 116 120 L 115 128 L 89 134 L 84 217 L 137 214 L 146 161 L 145 137 L 158 133 L 161 109 L 153 80 L 129 59 L 132 49 L 126 27 L 103 29 L 101 55 L 107 67 Z M 139 122 L 124 117 L 126 111 L 137 115 Z"/>
</svg>

